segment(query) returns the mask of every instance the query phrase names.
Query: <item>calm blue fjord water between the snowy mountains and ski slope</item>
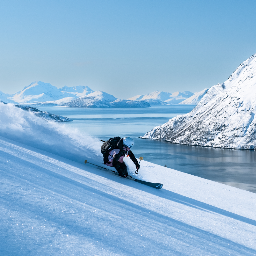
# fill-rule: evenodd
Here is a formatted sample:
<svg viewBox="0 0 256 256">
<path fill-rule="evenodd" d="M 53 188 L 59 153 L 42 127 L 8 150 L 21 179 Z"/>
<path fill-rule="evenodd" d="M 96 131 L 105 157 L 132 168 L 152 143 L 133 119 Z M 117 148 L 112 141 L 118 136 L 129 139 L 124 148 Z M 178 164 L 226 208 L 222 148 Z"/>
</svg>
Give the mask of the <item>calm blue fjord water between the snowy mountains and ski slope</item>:
<svg viewBox="0 0 256 256">
<path fill-rule="evenodd" d="M 148 162 L 166 165 L 181 172 L 256 193 L 254 150 L 189 146 L 139 138 L 170 118 L 190 112 L 195 105 L 150 108 L 34 107 L 71 118 L 73 122 L 60 123 L 60 125 L 78 128 L 81 133 L 95 136 L 99 140 L 107 140 L 113 136 L 130 136 L 135 141 L 132 151 L 137 158 L 142 156 Z"/>
</svg>

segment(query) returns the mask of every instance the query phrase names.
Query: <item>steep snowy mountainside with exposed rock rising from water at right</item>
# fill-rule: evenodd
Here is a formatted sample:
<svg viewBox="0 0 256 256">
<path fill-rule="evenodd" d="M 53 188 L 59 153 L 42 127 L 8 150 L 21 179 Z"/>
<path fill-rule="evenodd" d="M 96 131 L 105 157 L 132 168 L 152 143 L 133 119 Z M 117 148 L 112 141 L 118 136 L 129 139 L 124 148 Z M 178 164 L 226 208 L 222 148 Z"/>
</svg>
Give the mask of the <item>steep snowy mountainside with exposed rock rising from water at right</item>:
<svg viewBox="0 0 256 256">
<path fill-rule="evenodd" d="M 232 149 L 256 149 L 256 54 L 223 84 L 211 87 L 185 115 L 153 128 L 142 138 Z"/>
</svg>

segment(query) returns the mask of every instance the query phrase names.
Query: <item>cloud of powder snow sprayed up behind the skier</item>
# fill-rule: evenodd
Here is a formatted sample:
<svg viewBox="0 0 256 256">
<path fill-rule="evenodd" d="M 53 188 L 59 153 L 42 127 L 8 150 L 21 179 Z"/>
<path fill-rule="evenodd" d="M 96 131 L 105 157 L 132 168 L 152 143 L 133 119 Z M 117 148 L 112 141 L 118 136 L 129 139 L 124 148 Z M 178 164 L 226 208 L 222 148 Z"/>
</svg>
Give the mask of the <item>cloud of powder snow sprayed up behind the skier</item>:
<svg viewBox="0 0 256 256">
<path fill-rule="evenodd" d="M 93 152 L 94 145 L 97 149 L 101 145 L 97 145 L 91 137 L 87 138 L 85 144 L 84 137 L 76 129 L 66 129 L 57 122 L 48 122 L 12 104 L 0 103 L 0 123 L 0 136 L 75 161 L 82 161 L 86 148 L 91 147 Z M 72 137 L 71 130 L 74 130 Z M 92 156 L 95 154 L 100 155 L 100 150 L 95 151 Z"/>
</svg>

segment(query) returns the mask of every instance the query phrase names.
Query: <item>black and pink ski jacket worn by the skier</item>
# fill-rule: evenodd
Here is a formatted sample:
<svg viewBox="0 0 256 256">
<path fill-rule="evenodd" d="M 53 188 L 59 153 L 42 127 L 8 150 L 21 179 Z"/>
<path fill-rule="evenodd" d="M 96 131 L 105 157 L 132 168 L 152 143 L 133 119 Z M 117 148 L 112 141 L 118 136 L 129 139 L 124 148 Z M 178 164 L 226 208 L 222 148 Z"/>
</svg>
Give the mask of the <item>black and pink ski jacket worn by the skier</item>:
<svg viewBox="0 0 256 256">
<path fill-rule="evenodd" d="M 124 148 L 123 139 L 120 139 L 119 142 L 117 143 L 117 147 L 115 147 L 114 149 L 108 152 L 109 162 L 106 163 L 106 165 L 115 167 L 116 165 L 118 165 L 118 162 L 120 163 L 123 162 L 123 158 L 125 157 L 125 155 L 128 155 L 133 161 L 133 163 L 136 166 L 138 166 L 139 165 L 138 160 L 135 158 L 133 152 L 131 150 L 129 151 L 124 150 L 123 148 Z"/>
</svg>

